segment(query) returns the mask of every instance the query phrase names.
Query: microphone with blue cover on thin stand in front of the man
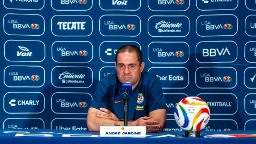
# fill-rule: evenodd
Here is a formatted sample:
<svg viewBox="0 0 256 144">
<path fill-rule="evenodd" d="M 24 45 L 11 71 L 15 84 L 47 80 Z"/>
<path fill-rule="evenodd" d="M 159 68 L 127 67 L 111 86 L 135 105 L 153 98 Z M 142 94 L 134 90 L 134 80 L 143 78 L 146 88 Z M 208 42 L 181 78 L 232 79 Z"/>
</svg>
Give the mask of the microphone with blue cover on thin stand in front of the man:
<svg viewBox="0 0 256 144">
<path fill-rule="evenodd" d="M 131 83 L 123 83 L 122 84 L 122 97 L 124 99 L 124 126 L 127 126 L 127 113 L 128 113 L 128 103 L 127 98 L 132 94 L 132 84 Z"/>
</svg>

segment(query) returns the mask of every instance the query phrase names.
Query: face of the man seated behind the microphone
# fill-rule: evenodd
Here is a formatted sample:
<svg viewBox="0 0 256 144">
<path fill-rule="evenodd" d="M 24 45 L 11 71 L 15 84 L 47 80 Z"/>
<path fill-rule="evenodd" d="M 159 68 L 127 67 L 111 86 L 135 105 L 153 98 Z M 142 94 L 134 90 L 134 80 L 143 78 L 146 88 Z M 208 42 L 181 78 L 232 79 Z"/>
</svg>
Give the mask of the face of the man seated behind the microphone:
<svg viewBox="0 0 256 144">
<path fill-rule="evenodd" d="M 139 83 L 144 66 L 144 62 L 140 66 L 135 52 L 121 52 L 117 55 L 117 77 L 121 83 L 132 83 L 132 89 Z"/>
</svg>

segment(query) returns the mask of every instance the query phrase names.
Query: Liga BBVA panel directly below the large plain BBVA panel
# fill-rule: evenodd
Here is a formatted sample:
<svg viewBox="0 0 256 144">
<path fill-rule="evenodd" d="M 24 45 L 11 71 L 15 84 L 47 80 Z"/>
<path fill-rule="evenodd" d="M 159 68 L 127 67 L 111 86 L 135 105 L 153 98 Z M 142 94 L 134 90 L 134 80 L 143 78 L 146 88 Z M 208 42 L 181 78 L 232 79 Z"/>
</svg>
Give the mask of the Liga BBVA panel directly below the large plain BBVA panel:
<svg viewBox="0 0 256 144">
<path fill-rule="evenodd" d="M 213 73 L 215 70 L 219 72 Z M 196 85 L 201 89 L 232 89 L 237 84 L 237 72 L 232 67 L 200 67 L 195 78 Z"/>
</svg>

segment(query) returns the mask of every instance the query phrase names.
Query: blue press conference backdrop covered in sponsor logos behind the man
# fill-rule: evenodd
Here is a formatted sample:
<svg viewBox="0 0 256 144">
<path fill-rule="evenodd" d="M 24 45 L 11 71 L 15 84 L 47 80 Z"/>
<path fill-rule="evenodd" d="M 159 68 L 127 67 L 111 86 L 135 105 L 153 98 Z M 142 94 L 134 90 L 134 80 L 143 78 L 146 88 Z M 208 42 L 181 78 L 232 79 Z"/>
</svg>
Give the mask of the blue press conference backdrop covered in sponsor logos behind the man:
<svg viewBox="0 0 256 144">
<path fill-rule="evenodd" d="M 180 131 L 176 102 L 204 99 L 206 131 L 256 130 L 255 0 L 3 0 L 0 122 L 4 129 L 87 130 L 100 78 L 119 46 L 141 48 Z"/>
</svg>

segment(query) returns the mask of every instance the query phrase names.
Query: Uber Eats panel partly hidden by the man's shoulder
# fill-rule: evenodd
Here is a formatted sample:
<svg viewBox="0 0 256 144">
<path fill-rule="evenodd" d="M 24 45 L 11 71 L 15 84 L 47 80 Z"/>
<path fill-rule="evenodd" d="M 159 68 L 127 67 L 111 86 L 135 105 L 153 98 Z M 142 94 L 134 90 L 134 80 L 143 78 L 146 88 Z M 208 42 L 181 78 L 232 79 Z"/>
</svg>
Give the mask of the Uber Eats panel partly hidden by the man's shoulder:
<svg viewBox="0 0 256 144">
<path fill-rule="evenodd" d="M 156 74 L 161 84 L 163 85 L 163 89 L 179 89 L 188 86 L 189 72 L 186 68 L 152 67 L 148 71 L 150 71 L 150 73 Z"/>
</svg>

